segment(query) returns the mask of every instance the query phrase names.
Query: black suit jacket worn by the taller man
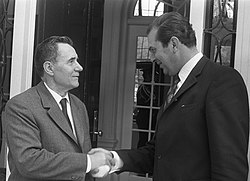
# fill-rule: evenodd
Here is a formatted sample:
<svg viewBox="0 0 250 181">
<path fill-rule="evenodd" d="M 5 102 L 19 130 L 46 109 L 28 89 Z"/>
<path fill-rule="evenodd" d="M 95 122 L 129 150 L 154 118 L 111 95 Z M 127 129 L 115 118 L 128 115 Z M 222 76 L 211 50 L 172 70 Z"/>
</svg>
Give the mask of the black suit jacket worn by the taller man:
<svg viewBox="0 0 250 181">
<path fill-rule="evenodd" d="M 138 150 L 121 150 L 121 171 L 153 172 L 155 181 L 246 181 L 249 105 L 233 68 L 203 57 Z"/>
</svg>

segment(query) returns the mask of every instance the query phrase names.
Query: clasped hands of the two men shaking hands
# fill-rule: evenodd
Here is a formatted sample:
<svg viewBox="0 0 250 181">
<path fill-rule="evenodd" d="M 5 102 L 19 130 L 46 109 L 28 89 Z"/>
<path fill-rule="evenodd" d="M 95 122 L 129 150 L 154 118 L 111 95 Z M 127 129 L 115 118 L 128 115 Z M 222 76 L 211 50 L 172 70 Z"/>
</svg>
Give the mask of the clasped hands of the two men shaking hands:
<svg viewBox="0 0 250 181">
<path fill-rule="evenodd" d="M 88 152 L 91 160 L 90 173 L 95 178 L 102 178 L 123 166 L 122 160 L 115 152 L 103 148 L 94 148 Z"/>
</svg>

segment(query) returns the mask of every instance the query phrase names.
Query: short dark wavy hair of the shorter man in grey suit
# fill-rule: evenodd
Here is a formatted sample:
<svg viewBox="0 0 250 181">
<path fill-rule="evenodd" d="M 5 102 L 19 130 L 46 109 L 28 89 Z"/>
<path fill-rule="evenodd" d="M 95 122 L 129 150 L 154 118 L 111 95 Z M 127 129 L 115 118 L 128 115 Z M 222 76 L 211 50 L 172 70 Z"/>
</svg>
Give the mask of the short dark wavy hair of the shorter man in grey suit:
<svg viewBox="0 0 250 181">
<path fill-rule="evenodd" d="M 40 77 L 43 77 L 43 63 L 46 61 L 55 62 L 57 57 L 58 43 L 66 43 L 73 46 L 73 41 L 67 36 L 51 36 L 36 47 L 34 65 Z"/>
</svg>

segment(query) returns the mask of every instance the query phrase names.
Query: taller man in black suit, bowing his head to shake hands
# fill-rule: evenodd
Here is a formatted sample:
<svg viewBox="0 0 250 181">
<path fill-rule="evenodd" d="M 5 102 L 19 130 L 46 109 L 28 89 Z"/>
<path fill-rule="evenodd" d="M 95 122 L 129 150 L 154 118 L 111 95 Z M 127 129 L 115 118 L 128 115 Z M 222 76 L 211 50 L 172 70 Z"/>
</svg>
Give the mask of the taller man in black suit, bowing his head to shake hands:
<svg viewBox="0 0 250 181">
<path fill-rule="evenodd" d="M 154 138 L 114 152 L 113 170 L 153 173 L 154 181 L 246 181 L 249 103 L 240 74 L 199 53 L 191 24 L 178 13 L 158 17 L 148 41 L 152 60 L 180 81 L 158 113 Z"/>
</svg>

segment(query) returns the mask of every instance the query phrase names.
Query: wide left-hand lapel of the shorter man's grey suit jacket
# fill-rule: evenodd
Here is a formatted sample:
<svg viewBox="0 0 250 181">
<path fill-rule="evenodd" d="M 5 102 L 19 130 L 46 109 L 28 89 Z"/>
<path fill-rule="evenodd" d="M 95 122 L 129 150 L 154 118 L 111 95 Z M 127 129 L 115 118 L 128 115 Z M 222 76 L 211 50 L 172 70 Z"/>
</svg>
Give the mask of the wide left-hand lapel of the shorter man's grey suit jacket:
<svg viewBox="0 0 250 181">
<path fill-rule="evenodd" d="M 66 118 L 64 117 L 61 109 L 56 103 L 53 96 L 47 90 L 43 82 L 37 85 L 38 94 L 41 97 L 42 105 L 48 110 L 48 114 L 52 118 L 52 121 L 61 128 L 61 130 L 67 134 L 75 143 L 78 144 L 71 128 L 69 127 Z"/>
</svg>

